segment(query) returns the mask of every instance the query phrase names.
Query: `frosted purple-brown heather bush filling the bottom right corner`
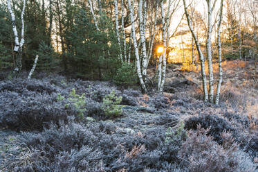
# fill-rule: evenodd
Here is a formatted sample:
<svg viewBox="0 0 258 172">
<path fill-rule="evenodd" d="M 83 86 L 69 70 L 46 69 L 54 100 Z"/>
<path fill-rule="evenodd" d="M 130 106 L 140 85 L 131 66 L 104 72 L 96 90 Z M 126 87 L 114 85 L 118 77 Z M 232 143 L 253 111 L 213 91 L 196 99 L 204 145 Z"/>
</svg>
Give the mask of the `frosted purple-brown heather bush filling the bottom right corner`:
<svg viewBox="0 0 258 172">
<path fill-rule="evenodd" d="M 187 141 L 182 144 L 178 157 L 181 164 L 192 172 L 217 171 L 255 171 L 255 165 L 250 157 L 239 150 L 229 133 L 223 132 L 223 144 L 220 146 L 208 130 L 198 126 L 196 131 L 188 132 Z"/>
</svg>

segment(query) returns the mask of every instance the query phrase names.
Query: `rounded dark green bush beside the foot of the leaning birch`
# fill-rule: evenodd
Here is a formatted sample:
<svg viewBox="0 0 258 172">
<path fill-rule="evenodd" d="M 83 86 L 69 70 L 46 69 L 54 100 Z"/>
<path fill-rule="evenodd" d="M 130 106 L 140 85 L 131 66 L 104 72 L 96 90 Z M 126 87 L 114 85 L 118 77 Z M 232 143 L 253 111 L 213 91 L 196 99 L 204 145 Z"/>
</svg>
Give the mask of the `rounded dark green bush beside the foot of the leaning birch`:
<svg viewBox="0 0 258 172">
<path fill-rule="evenodd" d="M 134 65 L 123 62 L 122 66 L 118 69 L 113 82 L 116 85 L 133 85 L 137 83 L 138 77 Z"/>
</svg>

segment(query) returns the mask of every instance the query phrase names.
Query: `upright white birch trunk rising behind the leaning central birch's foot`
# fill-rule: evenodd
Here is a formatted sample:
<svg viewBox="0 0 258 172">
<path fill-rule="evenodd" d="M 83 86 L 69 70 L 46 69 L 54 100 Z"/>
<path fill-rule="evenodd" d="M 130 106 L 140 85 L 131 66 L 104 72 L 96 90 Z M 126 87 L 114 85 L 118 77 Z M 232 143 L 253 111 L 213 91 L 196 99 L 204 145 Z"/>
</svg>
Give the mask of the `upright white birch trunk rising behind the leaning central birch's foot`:
<svg viewBox="0 0 258 172">
<path fill-rule="evenodd" d="M 146 2 L 145 2 L 146 3 Z M 145 22 L 144 18 L 146 17 L 145 15 L 142 15 L 142 5 L 143 5 L 143 0 L 139 1 L 139 6 L 138 6 L 138 17 L 140 21 L 140 43 L 142 44 L 142 77 L 143 80 L 146 81 L 146 76 L 147 76 L 147 50 L 146 50 L 146 37 L 145 37 Z M 146 5 L 145 5 L 145 8 Z M 145 10 L 145 9 L 144 9 Z"/>
</svg>

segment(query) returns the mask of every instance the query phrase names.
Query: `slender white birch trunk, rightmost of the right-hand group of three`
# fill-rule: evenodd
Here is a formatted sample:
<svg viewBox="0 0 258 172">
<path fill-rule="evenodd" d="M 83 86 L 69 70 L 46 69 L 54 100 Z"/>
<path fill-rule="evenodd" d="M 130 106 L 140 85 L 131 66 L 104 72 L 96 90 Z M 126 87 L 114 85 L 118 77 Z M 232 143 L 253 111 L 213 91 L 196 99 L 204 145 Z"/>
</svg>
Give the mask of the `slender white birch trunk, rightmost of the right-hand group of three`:
<svg viewBox="0 0 258 172">
<path fill-rule="evenodd" d="M 221 22 L 222 22 L 222 15 L 223 15 L 223 0 L 221 0 L 221 8 L 219 9 L 219 24 L 218 24 L 218 51 L 219 51 L 219 83 L 216 87 L 216 98 L 215 104 L 219 105 L 219 95 L 221 91 L 221 83 L 223 80 L 223 69 L 221 65 Z"/>
</svg>

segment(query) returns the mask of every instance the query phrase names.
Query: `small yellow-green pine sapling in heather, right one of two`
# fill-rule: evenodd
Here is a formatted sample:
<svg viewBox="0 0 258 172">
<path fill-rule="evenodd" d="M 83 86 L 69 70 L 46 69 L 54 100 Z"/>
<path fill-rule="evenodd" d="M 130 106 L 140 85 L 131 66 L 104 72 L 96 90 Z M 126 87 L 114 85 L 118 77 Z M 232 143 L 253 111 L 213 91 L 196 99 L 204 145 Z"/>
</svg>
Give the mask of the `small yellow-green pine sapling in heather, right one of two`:
<svg viewBox="0 0 258 172">
<path fill-rule="evenodd" d="M 119 105 L 122 101 L 122 96 L 116 96 L 115 91 L 113 90 L 110 94 L 106 95 L 103 98 L 104 114 L 107 117 L 118 117 L 122 114 L 122 106 Z"/>
</svg>

